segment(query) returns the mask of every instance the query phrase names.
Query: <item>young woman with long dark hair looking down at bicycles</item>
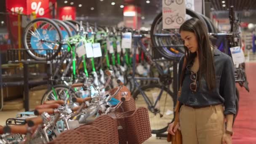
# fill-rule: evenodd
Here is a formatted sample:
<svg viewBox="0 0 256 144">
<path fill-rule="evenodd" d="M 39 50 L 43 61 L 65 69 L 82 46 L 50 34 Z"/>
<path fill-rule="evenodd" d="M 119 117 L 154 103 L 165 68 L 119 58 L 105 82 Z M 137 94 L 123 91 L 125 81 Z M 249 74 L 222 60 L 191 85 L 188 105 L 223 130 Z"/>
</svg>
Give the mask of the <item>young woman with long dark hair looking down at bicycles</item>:
<svg viewBox="0 0 256 144">
<path fill-rule="evenodd" d="M 189 19 L 180 27 L 185 56 L 179 62 L 179 123 L 183 144 L 232 144 L 235 76 L 232 58 L 211 45 L 205 25 Z M 186 64 L 182 71 L 182 66 Z M 226 123 L 226 124 L 225 124 Z"/>
</svg>

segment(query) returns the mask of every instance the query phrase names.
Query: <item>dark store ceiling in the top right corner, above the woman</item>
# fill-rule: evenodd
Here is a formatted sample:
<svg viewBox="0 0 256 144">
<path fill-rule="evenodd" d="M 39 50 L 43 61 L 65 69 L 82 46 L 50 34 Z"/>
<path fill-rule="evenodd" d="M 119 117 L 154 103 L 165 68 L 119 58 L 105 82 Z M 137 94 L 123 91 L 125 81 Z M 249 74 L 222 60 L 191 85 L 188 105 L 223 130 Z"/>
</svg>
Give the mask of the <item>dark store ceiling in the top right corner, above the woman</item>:
<svg viewBox="0 0 256 144">
<path fill-rule="evenodd" d="M 256 10 L 256 0 L 205 0 L 211 2 L 214 11 L 227 11 L 231 5 L 235 11 Z"/>
</svg>

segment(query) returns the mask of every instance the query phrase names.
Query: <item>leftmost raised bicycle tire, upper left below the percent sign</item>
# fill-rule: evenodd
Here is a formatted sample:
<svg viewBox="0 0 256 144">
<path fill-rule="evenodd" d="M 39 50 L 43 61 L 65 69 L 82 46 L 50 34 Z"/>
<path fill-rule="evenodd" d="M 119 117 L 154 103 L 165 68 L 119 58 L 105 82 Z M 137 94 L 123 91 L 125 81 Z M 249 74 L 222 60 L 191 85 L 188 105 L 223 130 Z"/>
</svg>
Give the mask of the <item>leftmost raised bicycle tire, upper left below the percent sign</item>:
<svg viewBox="0 0 256 144">
<path fill-rule="evenodd" d="M 28 43 L 27 43 L 27 34 L 29 32 L 29 29 L 31 28 L 31 26 L 33 24 L 35 24 L 36 22 L 40 22 L 40 21 L 45 21 L 47 22 L 48 24 L 51 24 L 57 31 L 57 34 L 59 35 L 59 46 L 56 48 L 56 51 L 50 56 L 50 57 L 39 57 L 39 56 L 36 56 L 32 50 L 30 50 L 30 48 L 28 47 Z M 33 59 L 35 60 L 38 60 L 38 61 L 45 61 L 45 60 L 52 60 L 54 59 L 58 53 L 61 51 L 61 47 L 62 47 L 62 44 L 61 44 L 61 40 L 62 40 L 62 34 L 61 34 L 61 29 L 59 28 L 59 26 L 51 19 L 48 19 L 48 18 L 37 18 L 37 19 L 34 19 L 33 21 L 30 21 L 29 24 L 27 24 L 27 27 L 24 29 L 24 33 L 23 33 L 23 46 L 25 49 L 27 49 L 27 53 L 29 54 L 29 56 L 31 56 Z"/>
</svg>

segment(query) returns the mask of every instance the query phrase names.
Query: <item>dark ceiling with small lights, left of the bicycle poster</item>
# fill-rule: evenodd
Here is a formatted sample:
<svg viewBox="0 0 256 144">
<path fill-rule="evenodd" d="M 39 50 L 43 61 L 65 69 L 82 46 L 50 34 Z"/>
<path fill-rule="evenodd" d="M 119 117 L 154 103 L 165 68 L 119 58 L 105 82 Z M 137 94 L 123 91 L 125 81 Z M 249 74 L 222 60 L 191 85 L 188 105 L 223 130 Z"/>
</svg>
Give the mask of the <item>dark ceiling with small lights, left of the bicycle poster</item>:
<svg viewBox="0 0 256 144">
<path fill-rule="evenodd" d="M 88 21 L 96 21 L 100 24 L 118 24 L 123 21 L 123 8 L 120 5 L 126 5 L 128 3 L 135 3 L 141 7 L 141 16 L 144 16 L 142 22 L 154 20 L 155 16 L 161 12 L 162 0 L 150 0 L 150 3 L 146 3 L 147 0 L 57 0 L 58 7 L 62 6 L 75 6 L 77 8 L 77 16 L 85 17 Z M 73 5 L 70 3 L 73 2 Z M 111 5 L 115 2 L 115 5 Z M 82 7 L 78 7 L 82 4 Z M 91 8 L 93 7 L 93 10 Z"/>
</svg>

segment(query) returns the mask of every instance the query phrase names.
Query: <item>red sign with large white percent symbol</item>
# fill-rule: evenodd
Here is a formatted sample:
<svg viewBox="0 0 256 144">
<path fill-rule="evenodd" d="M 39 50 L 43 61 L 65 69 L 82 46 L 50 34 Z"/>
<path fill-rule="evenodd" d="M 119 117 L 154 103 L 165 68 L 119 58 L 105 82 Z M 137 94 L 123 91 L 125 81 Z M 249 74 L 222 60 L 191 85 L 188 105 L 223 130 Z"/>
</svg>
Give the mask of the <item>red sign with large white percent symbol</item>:
<svg viewBox="0 0 256 144">
<path fill-rule="evenodd" d="M 27 13 L 35 12 L 37 17 L 51 17 L 49 0 L 27 0 Z"/>
</svg>

